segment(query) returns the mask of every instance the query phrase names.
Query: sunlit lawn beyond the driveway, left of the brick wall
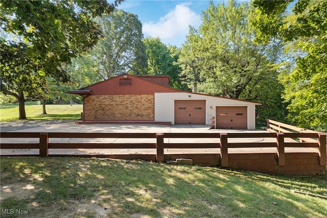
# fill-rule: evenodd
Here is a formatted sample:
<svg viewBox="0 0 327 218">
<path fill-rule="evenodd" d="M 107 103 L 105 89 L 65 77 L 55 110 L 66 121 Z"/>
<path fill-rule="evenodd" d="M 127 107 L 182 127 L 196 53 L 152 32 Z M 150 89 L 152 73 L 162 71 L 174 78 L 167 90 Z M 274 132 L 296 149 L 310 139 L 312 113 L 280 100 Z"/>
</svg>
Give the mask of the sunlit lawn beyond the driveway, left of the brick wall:
<svg viewBox="0 0 327 218">
<path fill-rule="evenodd" d="M 25 103 L 26 117 L 29 120 L 78 120 L 83 111 L 82 104 L 46 104 L 46 115 L 42 114 L 42 104 L 38 102 Z M 18 121 L 18 103 L 0 105 L 0 121 Z"/>
</svg>

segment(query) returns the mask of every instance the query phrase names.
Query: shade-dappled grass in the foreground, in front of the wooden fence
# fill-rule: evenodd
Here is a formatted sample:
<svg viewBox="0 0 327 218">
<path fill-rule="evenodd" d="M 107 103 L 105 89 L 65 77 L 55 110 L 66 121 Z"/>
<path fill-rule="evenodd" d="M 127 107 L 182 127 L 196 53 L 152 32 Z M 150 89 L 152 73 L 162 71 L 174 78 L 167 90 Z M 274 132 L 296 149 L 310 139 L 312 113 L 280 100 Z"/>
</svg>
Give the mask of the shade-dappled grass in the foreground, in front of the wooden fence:
<svg viewBox="0 0 327 218">
<path fill-rule="evenodd" d="M 292 192 L 327 196 L 324 177 L 268 176 L 144 161 L 32 157 L 3 157 L 0 173 L 1 210 L 28 210 L 34 217 L 327 216 L 326 199 Z"/>
</svg>

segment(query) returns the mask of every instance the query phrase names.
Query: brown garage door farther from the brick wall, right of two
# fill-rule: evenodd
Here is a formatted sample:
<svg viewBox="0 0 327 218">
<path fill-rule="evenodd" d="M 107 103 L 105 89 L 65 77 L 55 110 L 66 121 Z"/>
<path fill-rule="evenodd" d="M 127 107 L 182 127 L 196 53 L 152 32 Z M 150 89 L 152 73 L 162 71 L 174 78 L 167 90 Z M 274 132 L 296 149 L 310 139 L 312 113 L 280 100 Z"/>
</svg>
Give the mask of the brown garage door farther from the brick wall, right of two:
<svg viewBox="0 0 327 218">
<path fill-rule="evenodd" d="M 247 129 L 247 107 L 216 107 L 216 128 Z"/>
</svg>

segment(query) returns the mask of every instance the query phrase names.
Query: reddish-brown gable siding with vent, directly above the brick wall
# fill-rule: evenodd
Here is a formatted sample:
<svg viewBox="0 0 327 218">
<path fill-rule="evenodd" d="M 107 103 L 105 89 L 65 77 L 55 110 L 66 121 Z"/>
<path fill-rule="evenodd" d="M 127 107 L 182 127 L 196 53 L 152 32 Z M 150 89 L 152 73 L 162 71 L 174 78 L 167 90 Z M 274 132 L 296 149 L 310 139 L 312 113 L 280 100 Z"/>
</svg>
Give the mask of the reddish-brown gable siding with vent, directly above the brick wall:
<svg viewBox="0 0 327 218">
<path fill-rule="evenodd" d="M 121 75 L 83 89 L 92 90 L 92 95 L 154 95 L 154 93 L 160 92 L 181 92 L 136 76 L 128 75 L 127 77 L 131 79 L 131 85 L 120 85 L 121 79 L 124 80 Z"/>
</svg>

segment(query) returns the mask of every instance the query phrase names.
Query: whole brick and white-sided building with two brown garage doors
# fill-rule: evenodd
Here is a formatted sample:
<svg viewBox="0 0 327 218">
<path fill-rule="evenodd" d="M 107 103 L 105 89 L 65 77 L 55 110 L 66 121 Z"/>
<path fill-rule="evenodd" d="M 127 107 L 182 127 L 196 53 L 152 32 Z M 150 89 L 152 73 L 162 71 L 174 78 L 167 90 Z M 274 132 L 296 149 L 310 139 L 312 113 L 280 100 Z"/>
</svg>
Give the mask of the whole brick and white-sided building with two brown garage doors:
<svg viewBox="0 0 327 218">
<path fill-rule="evenodd" d="M 83 96 L 81 123 L 164 123 L 255 129 L 261 103 L 180 91 L 169 76 L 119 75 L 68 93 Z"/>
</svg>

